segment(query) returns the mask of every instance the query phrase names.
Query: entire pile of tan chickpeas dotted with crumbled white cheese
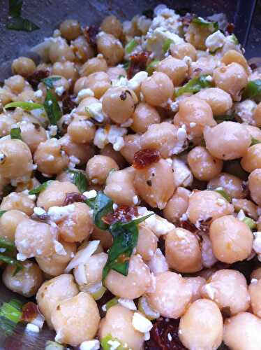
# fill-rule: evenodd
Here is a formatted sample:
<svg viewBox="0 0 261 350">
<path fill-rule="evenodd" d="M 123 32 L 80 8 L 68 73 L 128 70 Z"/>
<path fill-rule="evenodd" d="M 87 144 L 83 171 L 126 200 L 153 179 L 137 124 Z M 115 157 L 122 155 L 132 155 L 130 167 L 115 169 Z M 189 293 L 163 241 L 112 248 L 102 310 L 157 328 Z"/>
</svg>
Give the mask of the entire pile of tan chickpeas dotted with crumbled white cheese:
<svg viewBox="0 0 261 350">
<path fill-rule="evenodd" d="M 121 85 L 122 79 L 130 81 L 122 65 L 129 59 L 124 46 L 146 36 L 150 23 L 135 16 L 122 25 L 110 15 L 100 25 L 95 48 L 79 22 L 65 20 L 45 41 L 45 63 L 13 61 L 13 75 L 0 87 L 0 210 L 5 211 L 0 236 L 15 241 L 23 269 L 13 274 L 13 265 L 2 264 L 2 280 L 15 293 L 36 295 L 56 341 L 70 346 L 110 335 L 126 349 L 142 350 L 149 335 L 133 325 L 133 315 L 142 311 L 128 305 L 134 300 L 137 307 L 145 297 L 155 319 L 180 318 L 179 339 L 187 349 L 215 350 L 224 342 L 232 350 L 257 350 L 261 143 L 251 142 L 261 142 L 261 103 L 241 95 L 261 73 L 248 66 L 240 45 L 209 52 L 205 41 L 211 32 L 191 23 L 151 76 L 136 80 L 133 89 Z M 64 94 L 76 104 L 59 120 L 58 134 L 46 116 L 5 109 L 10 102 L 43 104 L 46 86 L 40 82 L 35 91 L 27 81 L 40 70 L 59 77 L 51 91 L 61 106 Z M 209 75 L 211 87 L 175 97 L 178 87 L 202 74 Z M 93 123 L 87 113 L 94 104 L 101 104 L 102 123 Z M 217 123 L 232 113 L 234 121 Z M 10 138 L 13 127 L 20 127 L 22 140 Z M 106 139 L 112 127 L 124 130 L 117 142 Z M 159 151 L 161 159 L 133 167 L 135 154 L 147 149 Z M 112 235 L 94 225 L 84 202 L 64 207 L 67 193 L 80 194 L 68 168 L 79 169 L 87 191 L 103 191 L 114 208 L 137 207 L 140 216 L 156 212 L 138 225 L 128 275 L 107 274 L 105 288 L 125 303 L 110 307 L 103 318 L 91 287 L 101 285 Z M 39 174 L 42 182 L 53 181 L 29 195 L 40 185 Z M 8 185 L 13 191 L 4 196 Z M 41 221 L 39 213 L 50 220 Z M 255 221 L 254 232 L 246 217 Z M 96 251 L 68 272 L 75 254 L 94 240 L 100 241 Z M 251 259 L 257 264 L 246 279 L 232 264 Z"/>
</svg>

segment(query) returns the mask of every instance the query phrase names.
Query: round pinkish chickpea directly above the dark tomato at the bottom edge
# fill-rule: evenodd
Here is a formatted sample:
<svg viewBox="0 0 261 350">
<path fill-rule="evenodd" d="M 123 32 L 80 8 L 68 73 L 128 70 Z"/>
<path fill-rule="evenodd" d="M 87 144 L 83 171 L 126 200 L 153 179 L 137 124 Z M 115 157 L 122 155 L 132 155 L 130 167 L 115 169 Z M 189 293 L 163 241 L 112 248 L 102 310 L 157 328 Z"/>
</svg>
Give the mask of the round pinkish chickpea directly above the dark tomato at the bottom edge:
<svg viewBox="0 0 261 350">
<path fill-rule="evenodd" d="M 149 305 L 163 317 L 179 318 L 191 300 L 191 287 L 175 272 L 156 275 L 156 289 L 147 293 Z"/>
</svg>

